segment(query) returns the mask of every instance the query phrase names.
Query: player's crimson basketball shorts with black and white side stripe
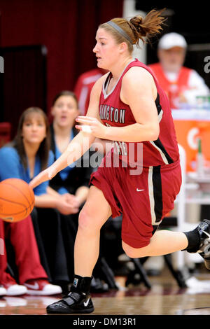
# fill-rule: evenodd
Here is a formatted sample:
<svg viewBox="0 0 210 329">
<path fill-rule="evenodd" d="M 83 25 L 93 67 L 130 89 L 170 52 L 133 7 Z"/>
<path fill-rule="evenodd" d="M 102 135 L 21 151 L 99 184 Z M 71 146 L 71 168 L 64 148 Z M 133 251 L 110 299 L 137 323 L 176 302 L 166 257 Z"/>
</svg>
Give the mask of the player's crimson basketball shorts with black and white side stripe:
<svg viewBox="0 0 210 329">
<path fill-rule="evenodd" d="M 122 162 L 119 167 L 107 167 L 105 162 L 106 158 L 91 175 L 90 186 L 102 190 L 113 218 L 123 215 L 123 241 L 133 248 L 147 246 L 162 218 L 174 209 L 181 187 L 179 161 L 141 168 L 141 174 L 131 174 Z"/>
</svg>

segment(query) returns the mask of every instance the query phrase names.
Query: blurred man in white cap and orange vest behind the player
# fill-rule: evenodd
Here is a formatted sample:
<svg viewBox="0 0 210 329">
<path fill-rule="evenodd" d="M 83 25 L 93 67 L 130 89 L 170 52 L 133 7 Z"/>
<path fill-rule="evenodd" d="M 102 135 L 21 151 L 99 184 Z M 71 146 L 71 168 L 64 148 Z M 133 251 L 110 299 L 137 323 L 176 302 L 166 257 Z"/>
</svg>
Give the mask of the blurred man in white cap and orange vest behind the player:
<svg viewBox="0 0 210 329">
<path fill-rule="evenodd" d="M 183 66 L 186 51 L 186 39 L 181 34 L 165 34 L 158 43 L 160 62 L 149 65 L 167 92 L 172 109 L 195 106 L 197 96 L 209 94 L 204 79 L 195 70 Z"/>
</svg>

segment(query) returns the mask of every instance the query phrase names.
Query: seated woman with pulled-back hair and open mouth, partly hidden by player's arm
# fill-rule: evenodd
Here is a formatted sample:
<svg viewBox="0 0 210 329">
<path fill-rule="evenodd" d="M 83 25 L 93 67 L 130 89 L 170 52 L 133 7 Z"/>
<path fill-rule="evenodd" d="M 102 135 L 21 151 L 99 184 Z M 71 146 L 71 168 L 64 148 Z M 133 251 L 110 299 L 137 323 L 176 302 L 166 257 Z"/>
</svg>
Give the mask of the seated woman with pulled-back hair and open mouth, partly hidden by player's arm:
<svg viewBox="0 0 210 329">
<path fill-rule="evenodd" d="M 51 150 L 55 161 L 78 133 L 74 128 L 75 119 L 79 115 L 76 95 L 68 90 L 59 92 L 52 102 L 51 114 L 53 117 L 50 126 Z M 73 214 L 78 212 L 87 198 L 91 173 L 92 168 L 89 162 L 86 167 L 82 167 L 78 162 L 63 169 L 50 181 L 50 187 L 57 190 L 59 194 L 65 195 L 67 193 L 72 203 Z"/>
</svg>

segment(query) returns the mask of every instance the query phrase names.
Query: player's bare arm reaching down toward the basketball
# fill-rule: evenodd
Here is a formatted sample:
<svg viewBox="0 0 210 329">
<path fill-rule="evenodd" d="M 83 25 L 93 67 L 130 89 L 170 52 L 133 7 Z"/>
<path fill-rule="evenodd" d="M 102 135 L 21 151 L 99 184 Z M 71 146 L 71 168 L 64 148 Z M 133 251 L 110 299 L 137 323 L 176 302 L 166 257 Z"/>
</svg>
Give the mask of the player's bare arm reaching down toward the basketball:
<svg viewBox="0 0 210 329">
<path fill-rule="evenodd" d="M 92 87 L 90 94 L 90 104 L 87 110 L 87 116 L 99 119 L 99 97 L 102 91 L 102 85 L 105 76 L 102 76 Z M 69 146 L 66 148 L 64 153 L 47 169 L 43 170 L 38 174 L 31 182 L 31 188 L 35 188 L 43 181 L 52 179 L 62 169 L 71 165 L 71 163 L 78 160 L 92 145 L 95 137 L 87 132 L 80 132 L 72 139 Z"/>
</svg>

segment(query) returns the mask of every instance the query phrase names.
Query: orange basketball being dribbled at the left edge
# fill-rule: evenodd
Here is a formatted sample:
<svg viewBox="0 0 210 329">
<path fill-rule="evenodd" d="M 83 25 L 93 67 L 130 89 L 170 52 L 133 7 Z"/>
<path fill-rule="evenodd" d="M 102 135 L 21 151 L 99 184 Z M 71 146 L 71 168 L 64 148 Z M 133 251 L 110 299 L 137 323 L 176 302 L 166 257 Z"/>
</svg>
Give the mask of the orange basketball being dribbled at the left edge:
<svg viewBox="0 0 210 329">
<path fill-rule="evenodd" d="M 34 191 L 22 179 L 0 183 L 0 218 L 15 223 L 25 219 L 34 208 Z"/>
</svg>

